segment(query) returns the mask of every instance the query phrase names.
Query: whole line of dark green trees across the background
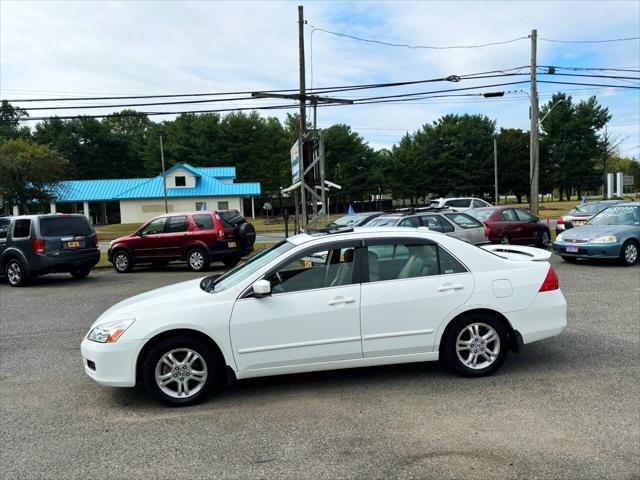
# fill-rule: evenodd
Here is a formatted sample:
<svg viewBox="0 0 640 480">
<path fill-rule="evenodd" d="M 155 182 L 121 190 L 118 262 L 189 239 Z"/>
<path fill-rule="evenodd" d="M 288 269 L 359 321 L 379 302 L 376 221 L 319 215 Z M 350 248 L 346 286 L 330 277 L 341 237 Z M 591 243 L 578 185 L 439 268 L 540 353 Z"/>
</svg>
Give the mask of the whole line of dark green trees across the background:
<svg viewBox="0 0 640 480">
<path fill-rule="evenodd" d="M 125 115 L 123 115 L 125 114 Z M 126 115 L 132 114 L 132 115 Z M 159 137 L 166 167 L 234 166 L 237 181 L 260 181 L 265 197 L 291 183 L 289 150 L 298 136 L 298 116 L 281 122 L 256 112 L 181 114 L 153 122 L 125 110 L 102 120 L 51 117 L 28 128 L 26 112 L 6 101 L 0 108 L 0 195 L 29 207 L 48 201 L 61 179 L 131 178 L 161 172 Z M 638 162 L 616 155 L 604 132 L 611 119 L 595 97 L 574 101 L 558 93 L 541 108 L 540 191 L 560 198 L 598 192 L 614 164 L 627 174 Z M 418 204 L 432 196 L 492 195 L 493 140 L 498 146 L 502 195 L 522 202 L 529 191 L 529 132 L 496 128 L 483 115 L 449 114 L 407 132 L 390 149 L 374 150 L 349 125 L 323 130 L 326 177 L 342 186 L 341 203 L 380 194 Z M 609 162 L 609 163 L 607 163 Z"/>
</svg>

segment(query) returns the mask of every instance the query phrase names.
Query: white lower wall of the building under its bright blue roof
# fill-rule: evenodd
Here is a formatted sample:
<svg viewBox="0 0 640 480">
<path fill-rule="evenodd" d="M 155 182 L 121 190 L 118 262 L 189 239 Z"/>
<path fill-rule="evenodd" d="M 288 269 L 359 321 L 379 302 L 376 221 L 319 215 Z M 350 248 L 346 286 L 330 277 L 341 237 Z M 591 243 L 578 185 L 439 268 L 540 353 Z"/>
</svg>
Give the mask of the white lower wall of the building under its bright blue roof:
<svg viewBox="0 0 640 480">
<path fill-rule="evenodd" d="M 169 213 L 198 210 L 196 203 L 206 202 L 207 210 L 222 210 L 228 202 L 230 210 L 239 210 L 243 215 L 242 197 L 183 197 L 167 199 Z M 120 200 L 120 223 L 143 223 L 164 213 L 164 199 Z"/>
</svg>

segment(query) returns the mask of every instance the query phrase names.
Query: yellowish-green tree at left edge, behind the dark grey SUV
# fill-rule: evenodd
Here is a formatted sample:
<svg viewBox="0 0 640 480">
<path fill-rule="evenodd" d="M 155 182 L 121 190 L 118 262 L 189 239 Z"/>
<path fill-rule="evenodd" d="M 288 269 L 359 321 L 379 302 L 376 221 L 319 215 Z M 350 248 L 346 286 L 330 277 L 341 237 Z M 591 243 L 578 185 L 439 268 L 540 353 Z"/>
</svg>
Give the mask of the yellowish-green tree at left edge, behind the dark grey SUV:
<svg viewBox="0 0 640 480">
<path fill-rule="evenodd" d="M 66 160 L 46 145 L 18 138 L 0 142 L 0 192 L 5 203 L 23 211 L 50 201 L 62 180 Z"/>
</svg>

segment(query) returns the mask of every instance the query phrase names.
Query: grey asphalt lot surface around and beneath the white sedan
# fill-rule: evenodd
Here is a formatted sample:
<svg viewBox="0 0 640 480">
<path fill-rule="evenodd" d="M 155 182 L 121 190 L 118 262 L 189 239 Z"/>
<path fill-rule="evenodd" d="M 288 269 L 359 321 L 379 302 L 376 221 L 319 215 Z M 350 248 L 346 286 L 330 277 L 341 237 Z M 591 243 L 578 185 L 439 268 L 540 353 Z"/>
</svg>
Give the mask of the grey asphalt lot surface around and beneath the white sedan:
<svg viewBox="0 0 640 480">
<path fill-rule="evenodd" d="M 639 478 L 640 266 L 553 259 L 559 337 L 494 376 L 438 363 L 239 382 L 169 409 L 96 385 L 79 345 L 113 303 L 185 267 L 0 283 L 0 477 Z"/>
</svg>

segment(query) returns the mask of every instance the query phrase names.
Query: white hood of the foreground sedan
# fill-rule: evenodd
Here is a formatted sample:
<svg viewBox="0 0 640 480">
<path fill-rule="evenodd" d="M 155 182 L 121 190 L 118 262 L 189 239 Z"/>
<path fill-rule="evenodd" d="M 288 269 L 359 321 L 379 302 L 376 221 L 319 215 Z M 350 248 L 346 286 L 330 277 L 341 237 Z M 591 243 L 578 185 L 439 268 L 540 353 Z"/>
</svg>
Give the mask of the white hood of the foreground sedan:
<svg viewBox="0 0 640 480">
<path fill-rule="evenodd" d="M 203 295 L 211 295 L 200 288 L 202 278 L 187 280 L 166 287 L 150 290 L 134 295 L 107 309 L 93 323 L 91 328 L 105 322 L 126 320 L 129 318 L 153 318 L 159 312 L 179 310 L 181 305 L 188 305 Z"/>
</svg>

